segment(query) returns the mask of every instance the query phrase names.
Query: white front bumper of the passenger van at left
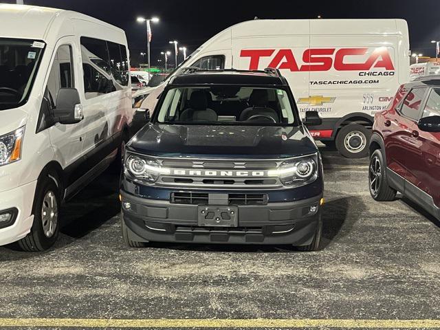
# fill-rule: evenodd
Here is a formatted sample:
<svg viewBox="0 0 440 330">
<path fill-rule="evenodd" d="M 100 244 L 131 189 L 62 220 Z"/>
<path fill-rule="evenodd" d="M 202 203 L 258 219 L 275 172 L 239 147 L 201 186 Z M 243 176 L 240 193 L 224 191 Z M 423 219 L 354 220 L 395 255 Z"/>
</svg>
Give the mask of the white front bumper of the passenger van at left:
<svg viewBox="0 0 440 330">
<path fill-rule="evenodd" d="M 36 181 L 24 184 L 14 189 L 0 192 L 0 214 L 14 210 L 14 220 L 2 228 L 0 223 L 0 245 L 5 245 L 23 239 L 32 228 L 34 216 L 32 203 L 34 201 Z"/>
</svg>

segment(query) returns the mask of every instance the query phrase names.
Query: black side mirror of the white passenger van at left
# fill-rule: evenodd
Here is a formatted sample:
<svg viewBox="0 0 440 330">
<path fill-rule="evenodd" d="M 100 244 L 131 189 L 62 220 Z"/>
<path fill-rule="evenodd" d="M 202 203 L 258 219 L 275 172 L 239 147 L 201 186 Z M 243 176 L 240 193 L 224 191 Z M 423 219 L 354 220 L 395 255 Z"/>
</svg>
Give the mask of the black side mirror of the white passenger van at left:
<svg viewBox="0 0 440 330">
<path fill-rule="evenodd" d="M 76 88 L 61 88 L 58 91 L 54 119 L 65 125 L 76 124 L 84 119 L 80 94 Z"/>
</svg>

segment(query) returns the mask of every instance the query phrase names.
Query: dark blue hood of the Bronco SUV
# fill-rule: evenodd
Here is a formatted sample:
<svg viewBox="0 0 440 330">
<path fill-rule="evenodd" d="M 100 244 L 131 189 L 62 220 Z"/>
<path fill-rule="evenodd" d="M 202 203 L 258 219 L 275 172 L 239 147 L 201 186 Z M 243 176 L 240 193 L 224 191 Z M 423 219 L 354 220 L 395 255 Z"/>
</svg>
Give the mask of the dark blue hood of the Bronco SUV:
<svg viewBox="0 0 440 330">
<path fill-rule="evenodd" d="M 127 145 L 146 155 L 278 158 L 316 153 L 303 126 L 211 126 L 147 124 Z"/>
</svg>

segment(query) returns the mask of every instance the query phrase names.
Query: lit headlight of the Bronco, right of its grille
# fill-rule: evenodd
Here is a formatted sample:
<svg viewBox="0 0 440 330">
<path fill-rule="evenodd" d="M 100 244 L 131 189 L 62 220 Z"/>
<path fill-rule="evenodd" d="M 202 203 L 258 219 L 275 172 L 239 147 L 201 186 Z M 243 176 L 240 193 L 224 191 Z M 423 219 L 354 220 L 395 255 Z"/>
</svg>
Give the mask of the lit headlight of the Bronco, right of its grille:
<svg viewBox="0 0 440 330">
<path fill-rule="evenodd" d="M 283 162 L 276 170 L 270 170 L 271 177 L 278 177 L 285 186 L 310 184 L 318 177 L 318 157 L 311 155 Z"/>
</svg>

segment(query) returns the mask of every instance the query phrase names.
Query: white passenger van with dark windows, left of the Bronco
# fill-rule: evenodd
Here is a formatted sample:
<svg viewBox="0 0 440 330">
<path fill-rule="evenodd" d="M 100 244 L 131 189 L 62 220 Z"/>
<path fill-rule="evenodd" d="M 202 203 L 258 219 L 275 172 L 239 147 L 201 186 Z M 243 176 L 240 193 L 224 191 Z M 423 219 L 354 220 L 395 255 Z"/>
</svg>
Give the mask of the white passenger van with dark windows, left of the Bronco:
<svg viewBox="0 0 440 330">
<path fill-rule="evenodd" d="M 116 159 L 132 120 L 124 31 L 0 4 L 0 245 L 50 248 L 61 203 Z"/>
</svg>

